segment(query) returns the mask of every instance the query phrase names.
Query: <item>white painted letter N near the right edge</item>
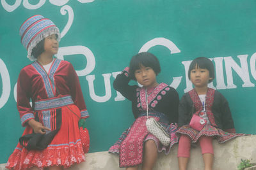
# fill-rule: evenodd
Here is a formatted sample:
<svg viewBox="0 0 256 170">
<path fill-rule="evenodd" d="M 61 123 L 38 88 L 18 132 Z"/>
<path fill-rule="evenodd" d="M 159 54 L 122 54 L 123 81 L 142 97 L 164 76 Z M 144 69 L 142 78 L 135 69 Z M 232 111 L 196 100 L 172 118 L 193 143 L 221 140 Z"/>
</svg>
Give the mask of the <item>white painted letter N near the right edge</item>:
<svg viewBox="0 0 256 170">
<path fill-rule="evenodd" d="M 244 81 L 244 84 L 242 85 L 243 87 L 254 87 L 254 84 L 250 81 L 248 65 L 247 65 L 247 57 L 248 55 L 237 55 L 237 58 L 239 58 L 241 62 L 241 67 L 239 67 L 236 64 L 236 62 L 232 59 L 232 57 L 224 57 L 226 74 L 227 74 L 227 89 L 236 88 L 236 85 L 234 85 L 233 83 L 232 68 Z"/>
</svg>

